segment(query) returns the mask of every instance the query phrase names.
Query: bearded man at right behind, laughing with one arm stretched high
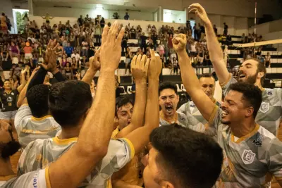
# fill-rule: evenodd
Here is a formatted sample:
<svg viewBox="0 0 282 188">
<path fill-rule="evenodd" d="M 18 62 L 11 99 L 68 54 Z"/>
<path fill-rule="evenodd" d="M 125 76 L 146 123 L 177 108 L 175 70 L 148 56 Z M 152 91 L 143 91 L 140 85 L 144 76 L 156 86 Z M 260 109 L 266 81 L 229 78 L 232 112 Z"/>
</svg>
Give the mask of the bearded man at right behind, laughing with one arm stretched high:
<svg viewBox="0 0 282 188">
<path fill-rule="evenodd" d="M 214 70 L 221 83 L 223 94 L 226 96 L 230 90 L 231 84 L 238 81 L 255 84 L 262 90 L 262 105 L 259 108 L 255 120 L 259 125 L 266 128 L 266 130 L 279 136 L 277 133 L 282 116 L 282 89 L 263 87 L 264 78 L 266 77 L 266 68 L 264 63 L 261 63 L 255 58 L 249 58 L 243 62 L 240 66 L 239 79 L 235 80 L 231 73 L 228 73 L 226 64 L 224 63 L 222 49 L 214 34 L 212 22 L 207 17 L 204 8 L 200 4 L 196 4 L 196 6 L 197 8 L 193 11 L 196 11 L 196 14 L 204 23 L 210 60 L 214 65 Z"/>
</svg>

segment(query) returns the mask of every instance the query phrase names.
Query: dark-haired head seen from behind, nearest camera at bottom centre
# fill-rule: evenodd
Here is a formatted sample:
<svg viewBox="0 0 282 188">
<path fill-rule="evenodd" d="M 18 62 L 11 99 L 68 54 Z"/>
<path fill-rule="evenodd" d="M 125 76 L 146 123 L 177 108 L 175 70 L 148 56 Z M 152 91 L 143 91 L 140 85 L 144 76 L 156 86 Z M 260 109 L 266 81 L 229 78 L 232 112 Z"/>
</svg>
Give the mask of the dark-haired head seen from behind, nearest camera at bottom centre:
<svg viewBox="0 0 282 188">
<path fill-rule="evenodd" d="M 171 124 L 154 129 L 149 140 L 159 152 L 161 180 L 175 187 L 210 188 L 221 173 L 221 146 L 205 134 Z"/>
</svg>

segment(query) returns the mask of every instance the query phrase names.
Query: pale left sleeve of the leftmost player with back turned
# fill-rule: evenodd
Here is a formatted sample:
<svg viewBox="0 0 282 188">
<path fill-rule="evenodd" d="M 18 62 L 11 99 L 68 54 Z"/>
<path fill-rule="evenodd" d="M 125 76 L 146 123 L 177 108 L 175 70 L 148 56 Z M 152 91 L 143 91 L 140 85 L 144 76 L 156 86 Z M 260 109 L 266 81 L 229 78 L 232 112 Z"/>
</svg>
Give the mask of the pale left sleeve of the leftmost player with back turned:
<svg viewBox="0 0 282 188">
<path fill-rule="evenodd" d="M 15 117 L 15 127 L 17 130 L 18 135 L 20 135 L 20 132 L 25 129 L 25 119 L 30 118 L 32 116 L 32 112 L 30 110 L 30 107 L 27 105 L 22 105 L 20 108 L 18 108 L 18 111 L 16 113 Z"/>
</svg>

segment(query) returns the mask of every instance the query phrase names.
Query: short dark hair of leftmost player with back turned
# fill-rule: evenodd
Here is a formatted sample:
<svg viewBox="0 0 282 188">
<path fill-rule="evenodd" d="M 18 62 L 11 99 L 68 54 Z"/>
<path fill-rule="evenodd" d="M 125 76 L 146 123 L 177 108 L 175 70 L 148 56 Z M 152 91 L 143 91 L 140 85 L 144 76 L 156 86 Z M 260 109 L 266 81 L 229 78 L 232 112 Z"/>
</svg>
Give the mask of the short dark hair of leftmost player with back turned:
<svg viewBox="0 0 282 188">
<path fill-rule="evenodd" d="M 27 103 L 35 118 L 42 118 L 48 114 L 49 86 L 38 84 L 30 88 L 27 92 Z"/>
</svg>

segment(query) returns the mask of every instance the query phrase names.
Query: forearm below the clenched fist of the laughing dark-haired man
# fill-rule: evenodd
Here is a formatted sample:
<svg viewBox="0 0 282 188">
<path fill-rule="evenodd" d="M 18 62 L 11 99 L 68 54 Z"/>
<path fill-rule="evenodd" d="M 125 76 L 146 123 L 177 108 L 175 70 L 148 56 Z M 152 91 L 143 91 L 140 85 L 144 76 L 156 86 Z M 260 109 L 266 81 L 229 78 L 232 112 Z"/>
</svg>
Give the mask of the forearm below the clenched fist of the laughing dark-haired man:
<svg viewBox="0 0 282 188">
<path fill-rule="evenodd" d="M 182 82 L 186 91 L 192 97 L 197 93 L 195 92 L 197 89 L 201 89 L 200 82 L 197 78 L 197 75 L 195 75 L 194 69 L 190 63 L 190 58 L 188 57 L 186 51 L 178 53 L 178 61 L 180 65 Z"/>
</svg>

